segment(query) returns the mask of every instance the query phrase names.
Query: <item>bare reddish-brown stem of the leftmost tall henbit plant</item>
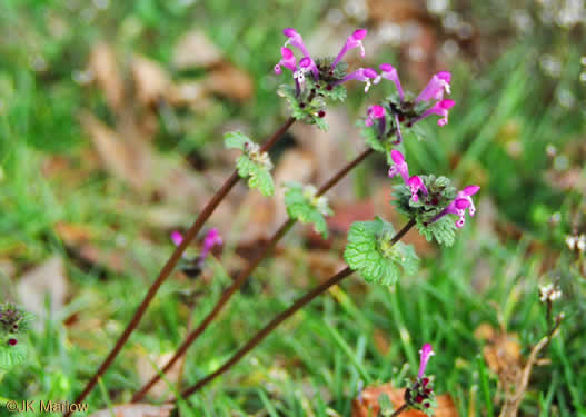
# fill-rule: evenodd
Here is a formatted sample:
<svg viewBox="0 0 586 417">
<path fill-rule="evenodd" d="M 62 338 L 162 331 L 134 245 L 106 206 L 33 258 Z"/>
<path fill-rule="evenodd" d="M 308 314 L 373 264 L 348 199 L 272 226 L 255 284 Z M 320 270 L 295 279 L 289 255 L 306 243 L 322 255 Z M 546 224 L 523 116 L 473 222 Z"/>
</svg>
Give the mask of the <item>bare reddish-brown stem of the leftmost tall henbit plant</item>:
<svg viewBox="0 0 586 417">
<path fill-rule="evenodd" d="M 268 151 L 276 142 L 279 140 L 279 138 L 291 127 L 291 125 L 295 122 L 295 119 L 291 117 L 289 118 L 260 148 L 261 151 Z M 208 218 L 211 216 L 211 214 L 216 210 L 218 205 L 224 200 L 224 198 L 230 192 L 232 187 L 238 182 L 240 177 L 238 176 L 238 171 L 235 170 L 230 178 L 224 182 L 221 188 L 216 192 L 216 195 L 209 200 L 209 202 L 206 205 L 203 210 L 201 210 L 200 215 L 197 217 L 193 225 L 189 228 L 189 230 L 186 232 L 183 240 L 181 244 L 175 249 L 175 251 L 171 254 L 171 257 L 167 260 L 165 266 L 162 267 L 161 271 L 159 272 L 159 276 L 152 282 L 149 290 L 147 291 L 147 295 L 142 299 L 142 302 L 136 310 L 135 315 L 132 316 L 132 319 L 126 327 L 122 335 L 117 340 L 113 348 L 110 350 L 103 363 L 100 365 L 96 374 L 91 377 L 89 383 L 86 385 L 86 388 L 77 397 L 76 404 L 81 403 L 88 394 L 93 389 L 96 384 L 98 383 L 98 379 L 103 375 L 103 373 L 110 367 L 110 365 L 113 363 L 115 358 L 118 356 L 125 344 L 127 342 L 128 338 L 132 334 L 132 331 L 137 328 L 138 324 L 140 322 L 140 319 L 145 315 L 145 311 L 147 310 L 149 304 L 155 298 L 155 295 L 157 294 L 159 287 L 162 285 L 162 282 L 171 275 L 175 267 L 177 266 L 177 262 L 179 259 L 181 259 L 181 255 L 186 250 L 187 246 L 193 240 L 193 238 L 197 236 L 197 234 L 201 230 Z M 71 413 L 68 411 L 64 414 L 64 417 L 68 417 Z"/>
</svg>

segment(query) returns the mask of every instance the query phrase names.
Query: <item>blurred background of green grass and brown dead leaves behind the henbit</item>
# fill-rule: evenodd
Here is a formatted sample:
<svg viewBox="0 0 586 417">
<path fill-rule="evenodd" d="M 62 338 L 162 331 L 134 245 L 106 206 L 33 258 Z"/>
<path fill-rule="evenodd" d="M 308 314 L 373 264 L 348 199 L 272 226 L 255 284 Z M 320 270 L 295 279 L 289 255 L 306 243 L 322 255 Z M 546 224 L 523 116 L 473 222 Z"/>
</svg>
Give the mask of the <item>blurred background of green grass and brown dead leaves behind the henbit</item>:
<svg viewBox="0 0 586 417">
<path fill-rule="evenodd" d="M 287 117 L 276 89 L 288 76 L 272 71 L 282 28 L 319 57 L 364 27 L 367 54 L 352 51 L 351 68 L 393 63 L 414 92 L 453 72 L 449 125 L 419 123 L 406 149 L 414 172 L 480 185 L 478 215 L 453 248 L 411 232 L 419 275 L 391 289 L 350 279 L 193 397 L 193 415 L 359 416 L 360 384 L 400 387 L 431 340 L 437 390 L 457 413 L 446 415 L 491 416 L 506 376 L 490 354 L 520 369 L 545 334 L 537 288 L 550 281 L 566 320 L 520 414 L 586 415 L 584 248 L 567 242 L 586 231 L 585 24 L 583 0 L 2 1 L 0 300 L 37 319 L 0 396 L 79 394 L 169 256 L 169 232 L 234 169 L 222 133 L 260 142 Z M 365 148 L 355 120 L 393 86 L 362 87 L 328 109 L 327 133 L 298 123 L 280 141 L 275 199 L 235 188 L 210 219 L 225 237 L 216 261 L 162 287 L 91 410 L 128 401 L 209 311 L 285 220 L 284 181 L 324 183 Z M 169 380 L 216 369 L 264 317 L 335 272 L 351 221 L 381 214 L 399 227 L 386 172 L 375 156 L 337 186 L 330 237 L 297 226 Z M 167 395 L 163 383 L 150 398 Z"/>
</svg>

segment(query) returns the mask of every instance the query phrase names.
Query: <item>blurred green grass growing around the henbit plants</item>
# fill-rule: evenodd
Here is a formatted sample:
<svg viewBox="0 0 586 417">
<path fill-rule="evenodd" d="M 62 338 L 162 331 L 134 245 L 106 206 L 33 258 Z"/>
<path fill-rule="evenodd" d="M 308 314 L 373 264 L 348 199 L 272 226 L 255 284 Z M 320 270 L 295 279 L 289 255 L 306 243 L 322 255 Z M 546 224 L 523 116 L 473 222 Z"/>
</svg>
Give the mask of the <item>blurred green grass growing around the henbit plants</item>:
<svg viewBox="0 0 586 417">
<path fill-rule="evenodd" d="M 120 53 L 139 51 L 166 66 L 178 37 L 198 26 L 228 59 L 251 73 L 256 91 L 246 106 L 218 99 L 207 117 L 187 116 L 199 123 L 196 131 L 158 137 L 163 151 L 187 156 L 202 147 L 221 147 L 217 132 L 228 120 L 246 120 L 255 138 L 277 126 L 277 80 L 271 68 L 282 43 L 279 30 L 295 26 L 309 33 L 331 6 L 304 2 L 301 8 L 287 0 L 249 1 L 241 8 L 227 0 L 181 4 L 111 1 L 107 11 L 97 12 L 92 24 L 79 17 L 79 4 L 68 9 L 62 1 L 13 0 L 1 6 L 0 258 L 11 259 L 23 271 L 61 254 L 72 299 L 62 317 L 31 334 L 29 360 L 4 377 L 0 397 L 64 400 L 79 394 L 171 250 L 167 230 L 137 220 L 145 214 L 145 201 L 117 179 L 99 171 L 85 178 L 47 178 L 42 173 L 43 162 L 54 156 L 83 167 L 83 150 L 90 145 L 77 119 L 80 108 L 111 116 L 99 93 L 88 92 L 71 78 L 71 71 L 83 68 L 89 44 L 106 38 Z M 51 34 L 48 13 L 69 22 L 66 36 Z M 18 42 L 13 34 L 8 36 L 14 32 L 21 34 Z M 570 88 L 578 100 L 584 99 L 584 90 L 573 87 L 584 46 L 567 41 L 566 36 L 555 41 L 564 58 L 557 82 L 539 72 L 538 59 L 549 48 L 543 39 L 540 43 L 511 41 L 515 44 L 508 52 L 479 71 L 469 63 L 456 63 L 453 96 L 457 106 L 450 123 L 437 129 L 434 122 L 426 122 L 420 128 L 425 140 L 407 138 L 406 143 L 414 170 L 449 175 L 460 183 L 480 183 L 483 197 L 490 197 L 496 205 L 497 224 L 514 224 L 523 238 L 487 234 L 469 219 L 453 248 L 425 258 L 417 276 L 404 277 L 393 288 L 365 286 L 357 276 L 348 278 L 332 291 L 335 297 L 321 297 L 298 312 L 227 375 L 186 400 L 182 415 L 330 416 L 335 410 L 349 416 L 359 381 L 391 380 L 400 386 L 405 377 L 414 376 L 417 351 L 426 341 L 437 353 L 429 368 L 436 376 L 437 391 L 450 393 L 461 416 L 498 411 L 496 378 L 481 358 L 483 344 L 474 330 L 483 322 L 498 327 L 501 315 L 508 330 L 519 335 L 524 355 L 545 332 L 537 287 L 546 258 L 563 249 L 565 234 L 562 228 L 550 230 L 545 219 L 557 210 L 565 212 L 569 198 L 544 181 L 548 166 L 544 149 L 547 143 L 562 149 L 585 133 L 583 110 L 564 109 L 554 99 L 560 88 Z M 390 60 L 395 52 L 383 52 L 376 63 Z M 31 69 L 34 53 L 47 60 L 48 72 Z M 171 76 L 178 75 L 171 71 Z M 403 77 L 407 85 L 413 81 Z M 385 88 L 390 91 L 389 86 Z M 358 97 L 359 91 L 350 95 Z M 383 97 L 375 90 L 369 100 L 379 95 Z M 358 109 L 362 102 L 361 98 L 352 99 L 354 116 L 361 116 Z M 518 157 L 507 152 L 510 141 L 520 143 Z M 384 172 L 381 158 L 375 157 L 360 171 L 357 192 L 371 192 L 371 177 Z M 121 207 L 122 200 L 129 206 Z M 138 267 L 122 274 L 82 268 L 68 256 L 56 234 L 58 222 L 85 225 L 95 230 L 105 248 L 131 255 Z M 145 239 L 145 234 L 152 238 Z M 286 242 L 298 245 L 299 228 L 291 235 Z M 236 242 L 236 234 L 232 237 L 230 245 Z M 534 242 L 545 244 L 545 249 L 534 249 Z M 225 251 L 222 258 L 230 256 Z M 481 291 L 475 282 L 480 259 L 489 270 Z M 276 262 L 278 259 L 264 264 L 250 288 L 232 299 L 190 350 L 183 387 L 215 370 L 307 289 L 280 276 Z M 304 262 L 294 265 L 291 275 L 308 276 L 311 282 L 326 278 L 312 276 Z M 169 280 L 161 288 L 127 348 L 90 395 L 90 410 L 128 401 L 140 385 L 136 359 L 146 353 L 172 351 L 187 331 L 189 316 L 196 322 L 205 317 L 229 281 L 219 264 L 211 268 L 215 275 L 209 285 Z M 548 350 L 552 364 L 534 370 L 522 407 L 525 416 L 586 416 L 584 280 L 564 279 L 563 286 L 568 295 L 563 306 L 566 322 Z M 0 298 L 12 294 L 2 282 Z M 192 311 L 186 299 L 196 305 Z M 66 327 L 62 319 L 72 314 L 96 325 Z M 377 349 L 375 330 L 388 338 L 388 353 Z M 80 339 L 85 344 L 76 345 Z"/>
</svg>

